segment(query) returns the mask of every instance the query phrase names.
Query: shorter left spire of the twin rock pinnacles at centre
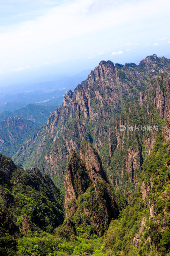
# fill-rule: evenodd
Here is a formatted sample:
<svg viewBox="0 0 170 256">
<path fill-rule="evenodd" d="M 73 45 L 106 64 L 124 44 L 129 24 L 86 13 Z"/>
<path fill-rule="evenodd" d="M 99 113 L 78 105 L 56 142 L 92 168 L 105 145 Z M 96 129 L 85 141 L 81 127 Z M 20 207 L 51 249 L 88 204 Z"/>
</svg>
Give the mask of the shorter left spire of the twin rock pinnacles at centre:
<svg viewBox="0 0 170 256">
<path fill-rule="evenodd" d="M 67 153 L 67 166 L 65 170 L 64 207 L 66 208 L 72 199 L 77 200 L 81 194 L 85 193 L 89 184 L 90 178 L 84 164 L 73 149 L 70 149 Z"/>
</svg>

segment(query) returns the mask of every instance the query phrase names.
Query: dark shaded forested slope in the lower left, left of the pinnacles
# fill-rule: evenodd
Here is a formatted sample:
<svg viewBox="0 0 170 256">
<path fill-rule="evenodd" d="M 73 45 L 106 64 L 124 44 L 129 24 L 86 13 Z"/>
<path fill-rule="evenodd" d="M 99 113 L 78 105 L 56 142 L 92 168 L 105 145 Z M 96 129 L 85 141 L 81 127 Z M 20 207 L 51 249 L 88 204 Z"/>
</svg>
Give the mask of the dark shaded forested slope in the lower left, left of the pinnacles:
<svg viewBox="0 0 170 256">
<path fill-rule="evenodd" d="M 52 232 L 63 221 L 60 192 L 33 167 L 23 170 L 0 154 L 0 234 L 27 230 Z"/>
</svg>

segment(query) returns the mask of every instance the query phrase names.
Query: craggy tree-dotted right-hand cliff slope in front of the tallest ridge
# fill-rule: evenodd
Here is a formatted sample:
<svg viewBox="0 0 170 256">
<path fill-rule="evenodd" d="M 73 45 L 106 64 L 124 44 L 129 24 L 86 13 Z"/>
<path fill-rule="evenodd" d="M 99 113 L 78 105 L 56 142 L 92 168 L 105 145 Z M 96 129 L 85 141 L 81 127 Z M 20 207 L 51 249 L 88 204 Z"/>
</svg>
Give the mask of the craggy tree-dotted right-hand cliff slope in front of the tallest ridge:
<svg viewBox="0 0 170 256">
<path fill-rule="evenodd" d="M 169 97 L 170 77 L 160 74 L 151 80 L 142 101 L 129 102 L 125 111 L 110 121 L 101 150 L 102 161 L 112 184 L 125 188 L 128 196 L 138 186 L 141 165 L 153 149 L 157 132 L 165 124 Z M 120 131 L 121 124 L 126 131 Z"/>
</svg>

